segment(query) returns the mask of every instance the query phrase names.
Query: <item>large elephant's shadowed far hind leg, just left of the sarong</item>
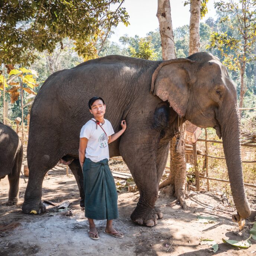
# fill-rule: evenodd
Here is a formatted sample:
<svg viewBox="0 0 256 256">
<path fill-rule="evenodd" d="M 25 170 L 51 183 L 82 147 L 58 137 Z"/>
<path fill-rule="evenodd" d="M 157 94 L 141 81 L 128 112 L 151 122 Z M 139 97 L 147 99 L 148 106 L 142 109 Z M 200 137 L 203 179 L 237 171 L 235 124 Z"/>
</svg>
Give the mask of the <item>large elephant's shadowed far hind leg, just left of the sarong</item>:
<svg viewBox="0 0 256 256">
<path fill-rule="evenodd" d="M 77 186 L 80 193 L 80 206 L 84 207 L 84 188 L 83 188 L 83 171 L 80 166 L 79 159 L 74 159 L 69 165 L 70 170 L 73 172 Z"/>
</svg>

